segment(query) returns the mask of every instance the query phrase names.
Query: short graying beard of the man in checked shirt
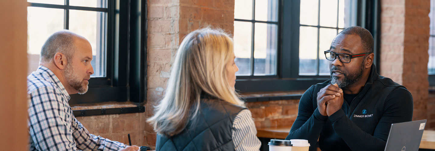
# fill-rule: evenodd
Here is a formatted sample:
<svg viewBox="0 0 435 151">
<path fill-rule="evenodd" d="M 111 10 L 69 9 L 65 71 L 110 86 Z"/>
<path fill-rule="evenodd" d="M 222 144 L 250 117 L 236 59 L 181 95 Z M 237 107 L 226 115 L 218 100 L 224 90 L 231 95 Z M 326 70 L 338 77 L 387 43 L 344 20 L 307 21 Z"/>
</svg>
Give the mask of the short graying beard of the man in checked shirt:
<svg viewBox="0 0 435 151">
<path fill-rule="evenodd" d="M 68 85 L 73 87 L 74 90 L 78 91 L 79 94 L 85 94 L 87 92 L 87 84 L 84 84 L 83 79 L 75 74 L 71 63 L 67 63 L 67 67 L 65 68 L 65 78 Z"/>
</svg>

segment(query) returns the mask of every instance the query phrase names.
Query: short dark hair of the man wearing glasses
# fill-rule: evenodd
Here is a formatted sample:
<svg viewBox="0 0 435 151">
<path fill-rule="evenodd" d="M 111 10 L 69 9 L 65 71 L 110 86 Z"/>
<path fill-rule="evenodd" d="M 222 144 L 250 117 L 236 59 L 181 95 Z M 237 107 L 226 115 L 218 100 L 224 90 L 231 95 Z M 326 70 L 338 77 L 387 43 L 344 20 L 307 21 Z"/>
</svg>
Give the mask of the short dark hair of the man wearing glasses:
<svg viewBox="0 0 435 151">
<path fill-rule="evenodd" d="M 365 28 L 359 26 L 347 27 L 338 34 L 358 35 L 361 38 L 361 44 L 364 51 L 367 53 L 373 53 L 373 36 L 371 36 L 370 31 Z"/>
</svg>

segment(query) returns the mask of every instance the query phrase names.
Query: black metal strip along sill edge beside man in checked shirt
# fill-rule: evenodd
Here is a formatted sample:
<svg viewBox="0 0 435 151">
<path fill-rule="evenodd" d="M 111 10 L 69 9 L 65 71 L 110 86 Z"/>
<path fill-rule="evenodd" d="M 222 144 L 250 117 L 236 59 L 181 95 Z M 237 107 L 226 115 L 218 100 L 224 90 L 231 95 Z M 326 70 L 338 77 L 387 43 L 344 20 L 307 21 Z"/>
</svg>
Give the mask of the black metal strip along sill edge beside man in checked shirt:
<svg viewBox="0 0 435 151">
<path fill-rule="evenodd" d="M 92 110 L 75 110 L 75 117 L 92 116 L 92 115 L 107 115 L 107 114 L 127 114 L 127 113 L 142 113 L 145 112 L 145 107 L 120 107 L 120 108 L 104 108 Z"/>
</svg>

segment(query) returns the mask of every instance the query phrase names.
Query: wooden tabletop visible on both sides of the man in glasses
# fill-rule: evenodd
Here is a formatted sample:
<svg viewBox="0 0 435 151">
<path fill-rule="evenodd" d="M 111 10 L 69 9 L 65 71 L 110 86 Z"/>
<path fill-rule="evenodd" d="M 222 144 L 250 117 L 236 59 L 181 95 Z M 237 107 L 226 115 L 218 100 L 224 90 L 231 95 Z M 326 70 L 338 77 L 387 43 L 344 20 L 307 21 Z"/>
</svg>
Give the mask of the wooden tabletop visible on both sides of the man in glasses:
<svg viewBox="0 0 435 151">
<path fill-rule="evenodd" d="M 257 137 L 285 139 L 290 131 L 290 128 L 291 127 L 257 128 Z M 425 130 L 423 132 L 422 142 L 420 143 L 419 148 L 435 150 L 435 131 Z"/>
</svg>

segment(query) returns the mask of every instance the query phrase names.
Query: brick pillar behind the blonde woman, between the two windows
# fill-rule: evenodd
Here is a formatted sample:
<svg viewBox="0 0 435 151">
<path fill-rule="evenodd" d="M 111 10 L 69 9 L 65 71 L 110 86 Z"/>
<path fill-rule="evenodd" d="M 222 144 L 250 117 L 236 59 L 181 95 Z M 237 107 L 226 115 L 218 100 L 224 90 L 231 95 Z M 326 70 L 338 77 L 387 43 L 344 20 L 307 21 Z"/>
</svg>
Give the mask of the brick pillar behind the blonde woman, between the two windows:
<svg viewBox="0 0 435 151">
<path fill-rule="evenodd" d="M 234 27 L 234 0 L 148 0 L 147 104 L 145 118 L 163 97 L 171 64 L 182 38 L 201 27 Z M 145 120 L 144 120 L 145 121 Z M 145 125 L 144 145 L 154 148 L 156 134 Z"/>
</svg>

